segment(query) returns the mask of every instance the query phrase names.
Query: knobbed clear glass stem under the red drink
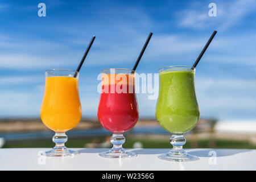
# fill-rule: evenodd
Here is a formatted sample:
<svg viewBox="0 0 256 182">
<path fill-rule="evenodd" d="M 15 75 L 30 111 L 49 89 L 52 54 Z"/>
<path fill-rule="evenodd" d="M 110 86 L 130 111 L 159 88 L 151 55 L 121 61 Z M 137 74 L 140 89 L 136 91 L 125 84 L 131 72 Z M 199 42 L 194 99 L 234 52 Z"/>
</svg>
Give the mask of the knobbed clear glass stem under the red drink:
<svg viewBox="0 0 256 182">
<path fill-rule="evenodd" d="M 125 143 L 125 137 L 123 137 L 123 133 L 113 133 L 110 142 L 113 144 L 113 147 L 110 149 L 113 152 L 122 152 L 123 151 L 123 143 Z"/>
</svg>

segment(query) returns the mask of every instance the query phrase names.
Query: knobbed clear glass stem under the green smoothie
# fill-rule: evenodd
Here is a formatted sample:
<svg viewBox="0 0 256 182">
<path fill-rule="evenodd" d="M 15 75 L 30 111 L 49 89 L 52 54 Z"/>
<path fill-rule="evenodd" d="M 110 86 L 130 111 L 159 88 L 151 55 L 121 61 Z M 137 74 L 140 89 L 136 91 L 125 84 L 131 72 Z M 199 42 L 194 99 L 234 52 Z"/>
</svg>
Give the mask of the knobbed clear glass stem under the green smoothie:
<svg viewBox="0 0 256 182">
<path fill-rule="evenodd" d="M 186 139 L 183 134 L 172 134 L 170 138 L 170 143 L 172 144 L 172 150 L 169 151 L 170 155 L 182 155 L 185 154 L 183 146 L 186 143 Z"/>
</svg>

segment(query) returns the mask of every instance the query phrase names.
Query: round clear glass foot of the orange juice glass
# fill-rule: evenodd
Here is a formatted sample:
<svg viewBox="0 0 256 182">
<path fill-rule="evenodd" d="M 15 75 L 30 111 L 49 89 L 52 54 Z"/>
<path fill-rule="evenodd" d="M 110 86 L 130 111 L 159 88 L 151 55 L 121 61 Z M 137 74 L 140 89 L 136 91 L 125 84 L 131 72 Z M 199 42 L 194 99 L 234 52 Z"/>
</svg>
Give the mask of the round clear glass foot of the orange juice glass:
<svg viewBox="0 0 256 182">
<path fill-rule="evenodd" d="M 46 151 L 43 156 L 56 157 L 56 156 L 75 156 L 80 154 L 79 151 L 69 150 L 65 148 L 52 148 L 52 150 Z"/>
</svg>

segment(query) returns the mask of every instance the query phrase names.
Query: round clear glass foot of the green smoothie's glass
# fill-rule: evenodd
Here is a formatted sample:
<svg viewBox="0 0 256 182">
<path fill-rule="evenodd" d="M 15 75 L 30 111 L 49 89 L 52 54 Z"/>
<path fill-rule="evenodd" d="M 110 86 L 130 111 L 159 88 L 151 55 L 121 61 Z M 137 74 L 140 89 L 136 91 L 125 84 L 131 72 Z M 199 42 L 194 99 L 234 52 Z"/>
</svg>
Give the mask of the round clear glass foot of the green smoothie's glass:
<svg viewBox="0 0 256 182">
<path fill-rule="evenodd" d="M 195 155 L 190 155 L 185 151 L 182 152 L 168 152 L 167 154 L 162 154 L 158 156 L 159 159 L 170 160 L 175 162 L 189 162 L 199 160 Z"/>
</svg>

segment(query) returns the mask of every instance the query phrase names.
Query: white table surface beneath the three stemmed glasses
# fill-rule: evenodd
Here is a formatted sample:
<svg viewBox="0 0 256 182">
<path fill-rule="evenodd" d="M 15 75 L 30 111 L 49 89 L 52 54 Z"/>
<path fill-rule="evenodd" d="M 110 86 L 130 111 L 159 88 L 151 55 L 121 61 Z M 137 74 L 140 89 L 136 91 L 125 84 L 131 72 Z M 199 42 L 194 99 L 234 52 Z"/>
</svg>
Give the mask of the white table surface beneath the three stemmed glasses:
<svg viewBox="0 0 256 182">
<path fill-rule="evenodd" d="M 73 148 L 81 152 L 74 157 L 39 156 L 39 152 L 45 150 L 49 148 L 1 148 L 0 170 L 256 170 L 256 150 L 187 150 L 199 156 L 200 160 L 195 162 L 170 162 L 157 158 L 159 154 L 168 152 L 168 149 L 131 149 L 138 154 L 131 159 L 105 159 L 98 156 L 98 152 L 107 151 L 106 148 Z M 216 158 L 212 154 L 216 154 Z"/>
</svg>

